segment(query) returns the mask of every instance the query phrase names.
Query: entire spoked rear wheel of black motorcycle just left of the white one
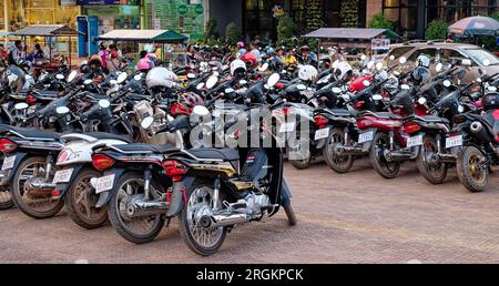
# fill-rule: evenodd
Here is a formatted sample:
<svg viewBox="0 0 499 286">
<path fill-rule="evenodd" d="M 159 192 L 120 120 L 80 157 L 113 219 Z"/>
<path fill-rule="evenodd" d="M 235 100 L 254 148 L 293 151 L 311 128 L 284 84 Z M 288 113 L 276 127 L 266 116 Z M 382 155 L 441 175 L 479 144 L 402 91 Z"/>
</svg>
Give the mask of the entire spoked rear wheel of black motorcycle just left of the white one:
<svg viewBox="0 0 499 286">
<path fill-rule="evenodd" d="M 27 215 L 34 218 L 48 218 L 58 214 L 64 206 L 62 198 L 53 198 L 50 188 L 37 188 L 33 184 L 52 183 L 55 168 L 50 172 L 50 180 L 45 180 L 47 174 L 45 157 L 30 157 L 24 160 L 16 170 L 12 181 L 12 198 L 16 205 Z"/>
</svg>

